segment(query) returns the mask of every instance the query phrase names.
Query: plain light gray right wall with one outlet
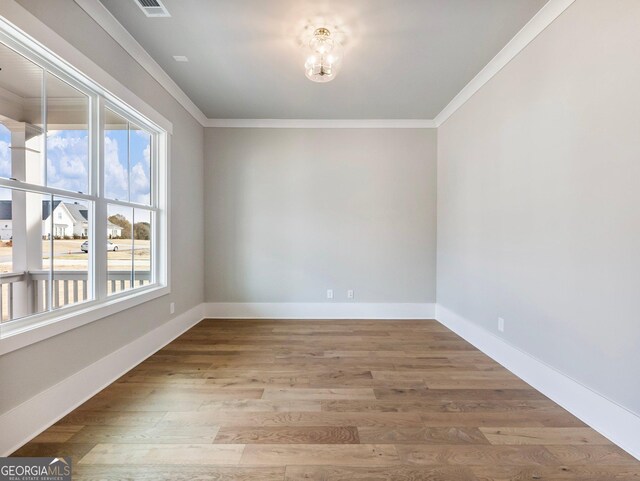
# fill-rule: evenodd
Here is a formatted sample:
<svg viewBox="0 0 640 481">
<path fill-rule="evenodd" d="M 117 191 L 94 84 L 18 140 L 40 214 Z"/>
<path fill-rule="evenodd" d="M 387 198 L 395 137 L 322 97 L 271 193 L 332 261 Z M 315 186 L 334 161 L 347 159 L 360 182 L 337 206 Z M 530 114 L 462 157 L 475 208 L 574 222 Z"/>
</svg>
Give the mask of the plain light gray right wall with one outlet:
<svg viewBox="0 0 640 481">
<path fill-rule="evenodd" d="M 438 303 L 640 414 L 640 2 L 579 0 L 438 131 Z"/>
</svg>

